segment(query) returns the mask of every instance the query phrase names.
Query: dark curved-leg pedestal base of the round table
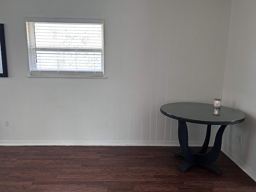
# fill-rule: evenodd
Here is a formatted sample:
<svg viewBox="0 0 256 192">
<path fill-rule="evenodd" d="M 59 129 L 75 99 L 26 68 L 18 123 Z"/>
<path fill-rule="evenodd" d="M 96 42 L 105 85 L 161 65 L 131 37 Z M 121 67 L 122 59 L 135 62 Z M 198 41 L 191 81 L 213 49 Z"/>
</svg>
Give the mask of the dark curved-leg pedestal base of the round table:
<svg viewBox="0 0 256 192">
<path fill-rule="evenodd" d="M 208 125 L 204 144 L 200 148 L 199 152 L 196 153 L 188 146 L 188 128 L 186 122 L 179 120 L 178 138 L 182 151 L 176 152 L 175 155 L 182 156 L 186 160 L 186 162 L 182 163 L 178 167 L 178 170 L 180 170 L 181 172 L 185 172 L 191 166 L 198 164 L 214 172 L 217 175 L 222 174 L 222 171 L 218 167 L 212 165 L 212 163 L 218 158 L 220 154 L 222 135 L 225 128 L 226 125 L 220 126 L 215 136 L 214 145 L 210 152 L 207 152 L 211 134 L 211 125 Z"/>
</svg>

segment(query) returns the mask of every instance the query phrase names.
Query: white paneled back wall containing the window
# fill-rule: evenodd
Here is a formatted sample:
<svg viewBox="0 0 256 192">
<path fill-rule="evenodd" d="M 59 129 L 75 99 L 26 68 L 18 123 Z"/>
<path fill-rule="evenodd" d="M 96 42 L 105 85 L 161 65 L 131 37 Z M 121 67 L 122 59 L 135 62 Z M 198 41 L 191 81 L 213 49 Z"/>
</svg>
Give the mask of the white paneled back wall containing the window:
<svg viewBox="0 0 256 192">
<path fill-rule="evenodd" d="M 222 96 L 230 11 L 231 0 L 0 0 L 0 144 L 178 145 L 160 106 Z M 108 78 L 27 78 L 24 16 L 105 18 Z M 205 126 L 189 127 L 202 142 Z"/>
</svg>

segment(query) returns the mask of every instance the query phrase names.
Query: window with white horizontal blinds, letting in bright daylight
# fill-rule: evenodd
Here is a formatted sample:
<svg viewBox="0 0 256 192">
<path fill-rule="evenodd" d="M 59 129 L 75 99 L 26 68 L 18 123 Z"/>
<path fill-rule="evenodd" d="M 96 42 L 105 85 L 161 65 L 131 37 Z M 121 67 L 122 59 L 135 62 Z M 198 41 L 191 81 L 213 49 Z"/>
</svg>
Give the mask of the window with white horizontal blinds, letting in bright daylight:
<svg viewBox="0 0 256 192">
<path fill-rule="evenodd" d="M 104 77 L 103 21 L 26 18 L 30 76 Z"/>
</svg>

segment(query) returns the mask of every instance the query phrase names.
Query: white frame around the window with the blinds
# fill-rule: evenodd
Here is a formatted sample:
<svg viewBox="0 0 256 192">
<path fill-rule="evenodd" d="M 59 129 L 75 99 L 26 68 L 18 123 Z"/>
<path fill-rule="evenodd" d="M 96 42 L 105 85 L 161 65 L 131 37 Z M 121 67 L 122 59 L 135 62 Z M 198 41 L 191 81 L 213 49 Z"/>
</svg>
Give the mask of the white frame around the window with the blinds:
<svg viewBox="0 0 256 192">
<path fill-rule="evenodd" d="M 100 24 L 102 26 L 102 48 L 50 48 L 48 47 L 48 52 L 58 51 L 58 52 L 93 52 L 94 54 L 101 55 L 101 68 L 100 70 L 77 70 L 77 69 L 39 69 L 37 66 L 37 54 L 38 51 L 44 51 L 45 48 L 36 47 L 36 38 L 33 38 L 30 34 L 35 34 L 34 23 L 68 23 L 68 24 Z M 29 75 L 28 77 L 44 77 L 44 78 L 103 78 L 105 76 L 105 66 L 104 66 L 104 19 L 103 18 L 40 18 L 40 17 L 25 17 L 26 24 L 26 34 L 27 34 L 27 48 L 28 48 L 28 62 L 29 62 Z M 27 26 L 30 24 L 30 27 Z M 31 26 L 32 25 L 32 26 Z M 33 34 L 33 35 L 34 35 Z M 34 42 L 32 42 L 34 39 Z M 29 39 L 30 38 L 30 39 Z M 32 42 L 32 43 L 31 43 Z M 34 43 L 34 44 L 33 44 Z M 84 54 L 86 55 L 86 54 Z M 39 65 L 39 64 L 38 64 Z M 42 66 L 42 65 L 41 65 Z"/>
</svg>

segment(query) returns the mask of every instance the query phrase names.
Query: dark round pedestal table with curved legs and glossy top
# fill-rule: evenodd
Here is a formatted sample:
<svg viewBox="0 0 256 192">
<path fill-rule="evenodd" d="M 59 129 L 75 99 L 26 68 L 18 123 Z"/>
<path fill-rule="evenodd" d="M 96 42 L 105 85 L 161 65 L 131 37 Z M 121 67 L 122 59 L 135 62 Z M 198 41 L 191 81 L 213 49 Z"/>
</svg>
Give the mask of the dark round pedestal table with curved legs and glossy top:
<svg viewBox="0 0 256 192">
<path fill-rule="evenodd" d="M 189 167 L 199 164 L 217 175 L 222 174 L 222 171 L 212 165 L 212 163 L 220 154 L 223 132 L 227 125 L 243 122 L 245 115 L 239 110 L 225 106 L 221 106 L 217 110 L 218 113 L 216 115 L 213 104 L 195 102 L 177 102 L 161 106 L 160 111 L 162 114 L 178 120 L 178 139 L 182 151 L 176 152 L 175 155 L 182 156 L 186 160 L 186 162 L 178 167 L 178 170 L 181 172 L 185 172 Z M 198 152 L 194 152 L 188 146 L 188 128 L 186 122 L 207 125 L 206 137 Z M 212 149 L 207 152 L 212 125 L 220 125 L 220 128 L 216 133 Z"/>
</svg>

